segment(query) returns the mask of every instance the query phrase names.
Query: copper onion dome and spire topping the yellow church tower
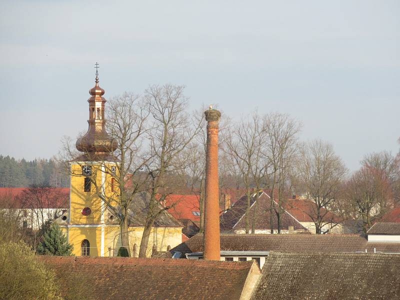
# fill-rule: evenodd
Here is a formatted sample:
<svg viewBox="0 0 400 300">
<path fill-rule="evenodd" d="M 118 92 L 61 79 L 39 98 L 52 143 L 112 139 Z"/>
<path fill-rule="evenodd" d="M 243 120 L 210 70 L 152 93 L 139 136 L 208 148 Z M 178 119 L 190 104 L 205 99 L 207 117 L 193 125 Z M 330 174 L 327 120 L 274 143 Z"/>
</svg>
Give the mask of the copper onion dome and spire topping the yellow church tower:
<svg viewBox="0 0 400 300">
<path fill-rule="evenodd" d="M 96 71 L 96 79 L 94 87 L 90 88 L 89 102 L 89 128 L 87 132 L 77 139 L 76 149 L 84 152 L 88 160 L 101 159 L 116 149 L 117 142 L 113 140 L 105 130 L 104 107 L 106 100 L 102 95 L 104 89 L 98 85 L 98 73 Z M 94 159 L 96 157 L 97 159 Z"/>
</svg>

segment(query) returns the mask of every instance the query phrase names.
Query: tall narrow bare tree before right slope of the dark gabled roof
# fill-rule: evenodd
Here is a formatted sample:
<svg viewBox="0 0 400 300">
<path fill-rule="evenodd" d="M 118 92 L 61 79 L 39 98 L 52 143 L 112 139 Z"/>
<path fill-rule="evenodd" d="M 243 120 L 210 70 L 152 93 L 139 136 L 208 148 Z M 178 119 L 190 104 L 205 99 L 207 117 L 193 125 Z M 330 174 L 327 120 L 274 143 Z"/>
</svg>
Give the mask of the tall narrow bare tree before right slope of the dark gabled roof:
<svg viewBox="0 0 400 300">
<path fill-rule="evenodd" d="M 267 158 L 266 182 L 270 197 L 269 222 L 274 232 L 273 213 L 277 217 L 277 231 L 280 233 L 280 217 L 290 189 L 290 174 L 297 152 L 296 143 L 301 124 L 287 114 L 270 113 L 264 117 L 266 140 L 264 155 Z"/>
</svg>

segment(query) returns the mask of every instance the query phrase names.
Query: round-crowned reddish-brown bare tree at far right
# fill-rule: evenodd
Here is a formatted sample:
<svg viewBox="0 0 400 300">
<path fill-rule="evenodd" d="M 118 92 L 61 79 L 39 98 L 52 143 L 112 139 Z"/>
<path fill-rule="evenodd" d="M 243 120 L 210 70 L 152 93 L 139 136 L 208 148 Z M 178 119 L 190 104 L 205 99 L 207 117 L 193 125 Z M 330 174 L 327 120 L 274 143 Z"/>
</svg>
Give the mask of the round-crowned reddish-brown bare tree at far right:
<svg viewBox="0 0 400 300">
<path fill-rule="evenodd" d="M 390 206 L 392 190 L 384 170 L 362 166 L 346 182 L 345 192 L 356 217 L 362 220 L 366 233 L 374 217 L 379 217 Z"/>
</svg>

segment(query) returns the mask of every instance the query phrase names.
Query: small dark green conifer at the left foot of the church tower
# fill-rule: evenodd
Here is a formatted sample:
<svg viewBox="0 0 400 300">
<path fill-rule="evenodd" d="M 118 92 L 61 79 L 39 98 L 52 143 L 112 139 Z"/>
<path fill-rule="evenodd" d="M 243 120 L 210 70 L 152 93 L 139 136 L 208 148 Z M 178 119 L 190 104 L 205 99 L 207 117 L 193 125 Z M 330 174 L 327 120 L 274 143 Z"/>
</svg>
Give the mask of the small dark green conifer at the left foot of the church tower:
<svg viewBox="0 0 400 300">
<path fill-rule="evenodd" d="M 72 255 L 73 246 L 66 241 L 57 224 L 52 224 L 44 233 L 43 240 L 37 246 L 37 253 L 42 255 Z"/>
</svg>

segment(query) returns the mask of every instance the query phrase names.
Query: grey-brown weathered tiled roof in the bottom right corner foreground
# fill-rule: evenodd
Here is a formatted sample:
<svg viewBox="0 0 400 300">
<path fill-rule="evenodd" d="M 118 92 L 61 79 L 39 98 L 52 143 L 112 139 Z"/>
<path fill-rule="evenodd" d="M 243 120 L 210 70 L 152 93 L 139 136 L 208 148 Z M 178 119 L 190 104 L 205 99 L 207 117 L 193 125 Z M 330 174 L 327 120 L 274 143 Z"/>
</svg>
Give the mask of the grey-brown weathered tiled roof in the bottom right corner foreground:
<svg viewBox="0 0 400 300">
<path fill-rule="evenodd" d="M 399 299 L 400 254 L 273 253 L 252 300 Z"/>
</svg>

